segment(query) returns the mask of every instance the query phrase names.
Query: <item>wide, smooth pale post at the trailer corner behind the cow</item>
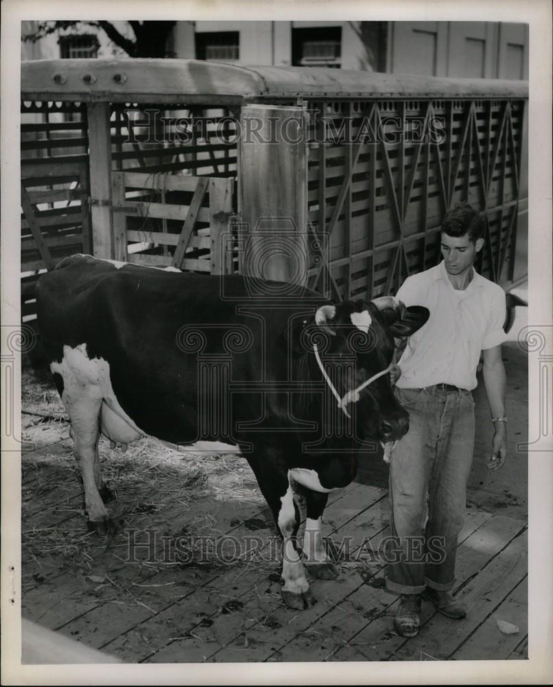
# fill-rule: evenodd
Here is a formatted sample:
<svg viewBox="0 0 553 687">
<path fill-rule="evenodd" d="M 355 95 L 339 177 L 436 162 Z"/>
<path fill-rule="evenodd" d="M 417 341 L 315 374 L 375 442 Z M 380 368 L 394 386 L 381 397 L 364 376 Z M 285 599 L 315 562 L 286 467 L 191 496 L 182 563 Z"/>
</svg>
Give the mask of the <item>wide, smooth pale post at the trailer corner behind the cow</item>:
<svg viewBox="0 0 553 687">
<path fill-rule="evenodd" d="M 247 105 L 240 123 L 244 271 L 307 286 L 307 111 Z"/>
</svg>

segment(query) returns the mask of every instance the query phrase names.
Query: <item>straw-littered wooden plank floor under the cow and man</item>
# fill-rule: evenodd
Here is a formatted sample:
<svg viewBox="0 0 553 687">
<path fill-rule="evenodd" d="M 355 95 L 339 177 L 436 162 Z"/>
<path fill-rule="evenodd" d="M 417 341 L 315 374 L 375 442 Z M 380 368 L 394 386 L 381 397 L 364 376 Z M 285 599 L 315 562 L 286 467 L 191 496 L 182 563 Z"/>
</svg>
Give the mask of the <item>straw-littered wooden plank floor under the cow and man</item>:
<svg viewBox="0 0 553 687">
<path fill-rule="evenodd" d="M 528 657 L 523 520 L 469 509 L 455 588 L 467 618 L 450 620 L 423 602 L 421 632 L 405 639 L 393 629 L 397 596 L 384 589 L 377 556 L 388 534 L 384 489 L 354 483 L 331 495 L 324 534 L 346 560 L 337 580 L 312 581 L 313 608 L 292 611 L 281 602 L 278 545 L 262 499 L 222 498 L 208 484 L 201 498 L 185 503 L 168 477 L 157 488 L 175 493 L 174 501 L 149 510 L 125 487 L 113 510 L 126 530 L 100 539 L 86 534 L 75 469 L 56 462 L 67 458 L 67 432 L 31 433 L 42 441 L 25 454 L 22 529 L 31 544 L 23 545 L 22 612 L 73 640 L 131 663 Z M 40 469 L 30 469 L 33 455 Z M 43 479 L 48 471 L 59 473 L 54 486 Z M 156 494 L 150 498 L 155 504 Z M 60 554 L 56 542 L 75 532 L 86 546 L 81 541 Z M 189 539 L 202 533 L 209 534 L 204 563 Z M 502 633 L 497 620 L 518 631 Z"/>
</svg>

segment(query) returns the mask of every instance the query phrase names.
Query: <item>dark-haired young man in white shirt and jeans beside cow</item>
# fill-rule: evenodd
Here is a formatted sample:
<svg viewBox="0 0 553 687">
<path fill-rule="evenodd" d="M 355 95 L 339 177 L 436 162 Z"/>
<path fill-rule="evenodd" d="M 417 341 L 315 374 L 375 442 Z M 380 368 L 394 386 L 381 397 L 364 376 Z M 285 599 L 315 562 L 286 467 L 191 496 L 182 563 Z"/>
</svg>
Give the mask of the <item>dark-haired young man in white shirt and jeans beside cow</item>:
<svg viewBox="0 0 553 687">
<path fill-rule="evenodd" d="M 473 268 L 483 230 L 484 218 L 469 205 L 449 211 L 442 224 L 443 261 L 406 279 L 397 293 L 406 306 L 430 310 L 428 322 L 407 341 L 395 387 L 410 428 L 390 458 L 390 526 L 399 546 L 386 586 L 401 594 L 394 624 L 405 637 L 419 631 L 421 595 L 449 618 L 466 615 L 451 589 L 473 458 L 471 390 L 481 351 L 494 427 L 487 467 L 502 467 L 507 453 L 505 294 Z"/>
</svg>

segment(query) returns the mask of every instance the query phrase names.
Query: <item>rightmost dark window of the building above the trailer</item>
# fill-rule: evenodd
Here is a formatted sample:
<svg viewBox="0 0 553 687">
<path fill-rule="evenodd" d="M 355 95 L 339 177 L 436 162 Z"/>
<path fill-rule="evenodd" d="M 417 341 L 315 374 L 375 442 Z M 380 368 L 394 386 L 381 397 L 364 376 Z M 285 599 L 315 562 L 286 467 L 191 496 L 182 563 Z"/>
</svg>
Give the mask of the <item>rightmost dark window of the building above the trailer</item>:
<svg viewBox="0 0 553 687">
<path fill-rule="evenodd" d="M 340 67 L 341 64 L 341 26 L 292 29 L 292 65 Z"/>
</svg>

